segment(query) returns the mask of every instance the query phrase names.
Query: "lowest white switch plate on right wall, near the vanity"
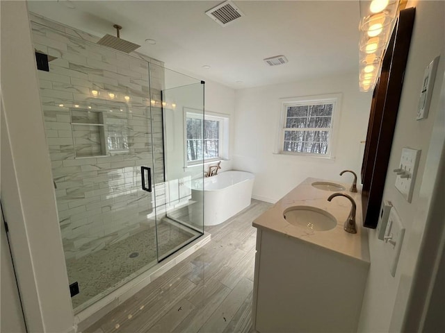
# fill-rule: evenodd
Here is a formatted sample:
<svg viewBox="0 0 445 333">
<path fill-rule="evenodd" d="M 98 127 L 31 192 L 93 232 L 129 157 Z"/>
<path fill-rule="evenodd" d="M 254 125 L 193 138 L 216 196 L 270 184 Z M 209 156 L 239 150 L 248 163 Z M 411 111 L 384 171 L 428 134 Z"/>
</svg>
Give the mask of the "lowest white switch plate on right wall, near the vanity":
<svg viewBox="0 0 445 333">
<path fill-rule="evenodd" d="M 401 255 L 401 248 L 403 244 L 403 237 L 405 236 L 405 228 L 403 228 L 402 221 L 398 216 L 396 209 L 391 208 L 389 212 L 389 219 L 387 228 L 385 230 L 385 257 L 387 257 L 389 264 L 389 272 L 392 276 L 396 276 L 396 269 L 398 258 Z"/>
</svg>

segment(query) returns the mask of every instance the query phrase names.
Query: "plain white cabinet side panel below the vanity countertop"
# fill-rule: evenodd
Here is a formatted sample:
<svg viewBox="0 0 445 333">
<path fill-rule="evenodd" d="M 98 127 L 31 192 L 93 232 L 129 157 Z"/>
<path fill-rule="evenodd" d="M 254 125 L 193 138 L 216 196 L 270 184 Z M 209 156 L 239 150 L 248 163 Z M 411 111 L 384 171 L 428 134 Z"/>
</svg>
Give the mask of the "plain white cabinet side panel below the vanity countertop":
<svg viewBox="0 0 445 333">
<path fill-rule="evenodd" d="M 255 330 L 357 332 L 368 269 L 369 263 L 258 230 Z"/>
</svg>

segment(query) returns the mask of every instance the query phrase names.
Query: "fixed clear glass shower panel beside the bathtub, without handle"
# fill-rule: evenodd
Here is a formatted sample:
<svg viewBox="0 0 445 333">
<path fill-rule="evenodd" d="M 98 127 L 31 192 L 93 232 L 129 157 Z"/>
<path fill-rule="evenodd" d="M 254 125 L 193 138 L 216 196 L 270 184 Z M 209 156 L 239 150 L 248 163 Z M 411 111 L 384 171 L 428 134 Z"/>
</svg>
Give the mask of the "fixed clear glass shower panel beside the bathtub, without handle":
<svg viewBox="0 0 445 333">
<path fill-rule="evenodd" d="M 164 85 L 156 91 L 160 67 L 150 64 L 149 69 L 153 123 L 163 123 L 162 159 L 154 148 L 156 237 L 161 261 L 204 234 L 203 192 L 193 187 L 202 184 L 204 164 L 197 159 L 188 165 L 186 158 L 186 110 L 204 117 L 204 82 L 163 69 Z M 157 141 L 154 137 L 153 142 Z"/>
</svg>

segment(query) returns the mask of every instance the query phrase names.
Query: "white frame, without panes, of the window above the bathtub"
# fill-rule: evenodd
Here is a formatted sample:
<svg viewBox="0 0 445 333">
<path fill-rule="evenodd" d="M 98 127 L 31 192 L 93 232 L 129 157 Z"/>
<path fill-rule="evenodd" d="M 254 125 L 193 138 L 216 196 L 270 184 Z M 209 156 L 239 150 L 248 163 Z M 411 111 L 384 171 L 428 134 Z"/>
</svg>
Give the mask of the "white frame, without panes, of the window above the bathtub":
<svg viewBox="0 0 445 333">
<path fill-rule="evenodd" d="M 193 167 L 202 164 L 202 160 L 188 161 L 187 160 L 187 118 L 195 118 L 204 120 L 219 121 L 219 137 L 218 137 L 218 157 L 211 157 L 204 159 L 204 164 L 217 162 L 220 160 L 228 160 L 229 155 L 229 123 L 230 117 L 228 114 L 220 114 L 216 112 L 204 112 L 191 108 L 184 108 L 184 165 L 186 167 Z"/>
</svg>

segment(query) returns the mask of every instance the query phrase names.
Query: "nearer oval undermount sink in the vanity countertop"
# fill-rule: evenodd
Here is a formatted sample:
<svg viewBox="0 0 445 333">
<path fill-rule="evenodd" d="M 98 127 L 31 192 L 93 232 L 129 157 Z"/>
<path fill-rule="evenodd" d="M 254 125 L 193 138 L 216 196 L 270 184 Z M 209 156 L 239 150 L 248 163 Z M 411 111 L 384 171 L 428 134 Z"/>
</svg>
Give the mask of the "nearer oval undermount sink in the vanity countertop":
<svg viewBox="0 0 445 333">
<path fill-rule="evenodd" d="M 314 231 L 334 229 L 337 220 L 330 213 L 312 206 L 294 206 L 283 213 L 284 219 L 300 228 Z"/>
</svg>

